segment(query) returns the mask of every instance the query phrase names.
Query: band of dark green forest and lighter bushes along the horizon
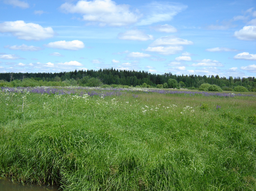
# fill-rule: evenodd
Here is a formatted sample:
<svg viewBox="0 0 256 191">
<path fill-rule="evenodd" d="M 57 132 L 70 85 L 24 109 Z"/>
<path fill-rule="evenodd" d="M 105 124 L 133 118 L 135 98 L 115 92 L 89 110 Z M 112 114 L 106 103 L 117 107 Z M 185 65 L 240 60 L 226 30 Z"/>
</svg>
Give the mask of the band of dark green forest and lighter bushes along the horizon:
<svg viewBox="0 0 256 191">
<path fill-rule="evenodd" d="M 254 77 L 229 76 L 220 77 L 200 75 L 176 75 L 164 73 L 162 75 L 147 71 L 116 70 L 113 68 L 99 70 L 74 70 L 60 73 L 0 73 L 0 86 L 106 86 L 125 85 L 151 88 L 165 87 L 169 79 L 177 81 L 177 88 L 198 89 L 201 84 L 215 84 L 223 90 L 232 90 L 236 86 L 244 86 L 249 91 L 256 91 Z"/>
</svg>

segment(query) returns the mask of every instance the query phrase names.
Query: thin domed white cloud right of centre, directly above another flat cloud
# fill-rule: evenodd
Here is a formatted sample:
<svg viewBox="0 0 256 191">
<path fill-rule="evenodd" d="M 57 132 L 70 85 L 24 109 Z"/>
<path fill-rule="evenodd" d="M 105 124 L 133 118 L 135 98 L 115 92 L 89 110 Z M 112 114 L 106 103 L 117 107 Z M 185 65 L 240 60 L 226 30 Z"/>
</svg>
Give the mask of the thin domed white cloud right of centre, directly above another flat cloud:
<svg viewBox="0 0 256 191">
<path fill-rule="evenodd" d="M 192 41 L 176 38 L 173 36 L 165 36 L 156 39 L 151 45 L 149 46 L 170 46 L 170 45 L 191 45 L 193 44 Z"/>
</svg>

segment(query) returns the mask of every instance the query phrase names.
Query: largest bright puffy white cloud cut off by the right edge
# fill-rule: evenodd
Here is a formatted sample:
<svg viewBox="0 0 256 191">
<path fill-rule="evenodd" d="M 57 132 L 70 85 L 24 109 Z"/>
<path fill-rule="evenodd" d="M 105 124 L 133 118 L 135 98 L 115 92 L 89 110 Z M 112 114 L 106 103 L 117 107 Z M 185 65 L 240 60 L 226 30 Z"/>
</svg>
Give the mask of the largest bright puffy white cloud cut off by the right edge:
<svg viewBox="0 0 256 191">
<path fill-rule="evenodd" d="M 256 26 L 244 26 L 240 31 L 235 31 L 239 40 L 256 40 Z"/>
</svg>

